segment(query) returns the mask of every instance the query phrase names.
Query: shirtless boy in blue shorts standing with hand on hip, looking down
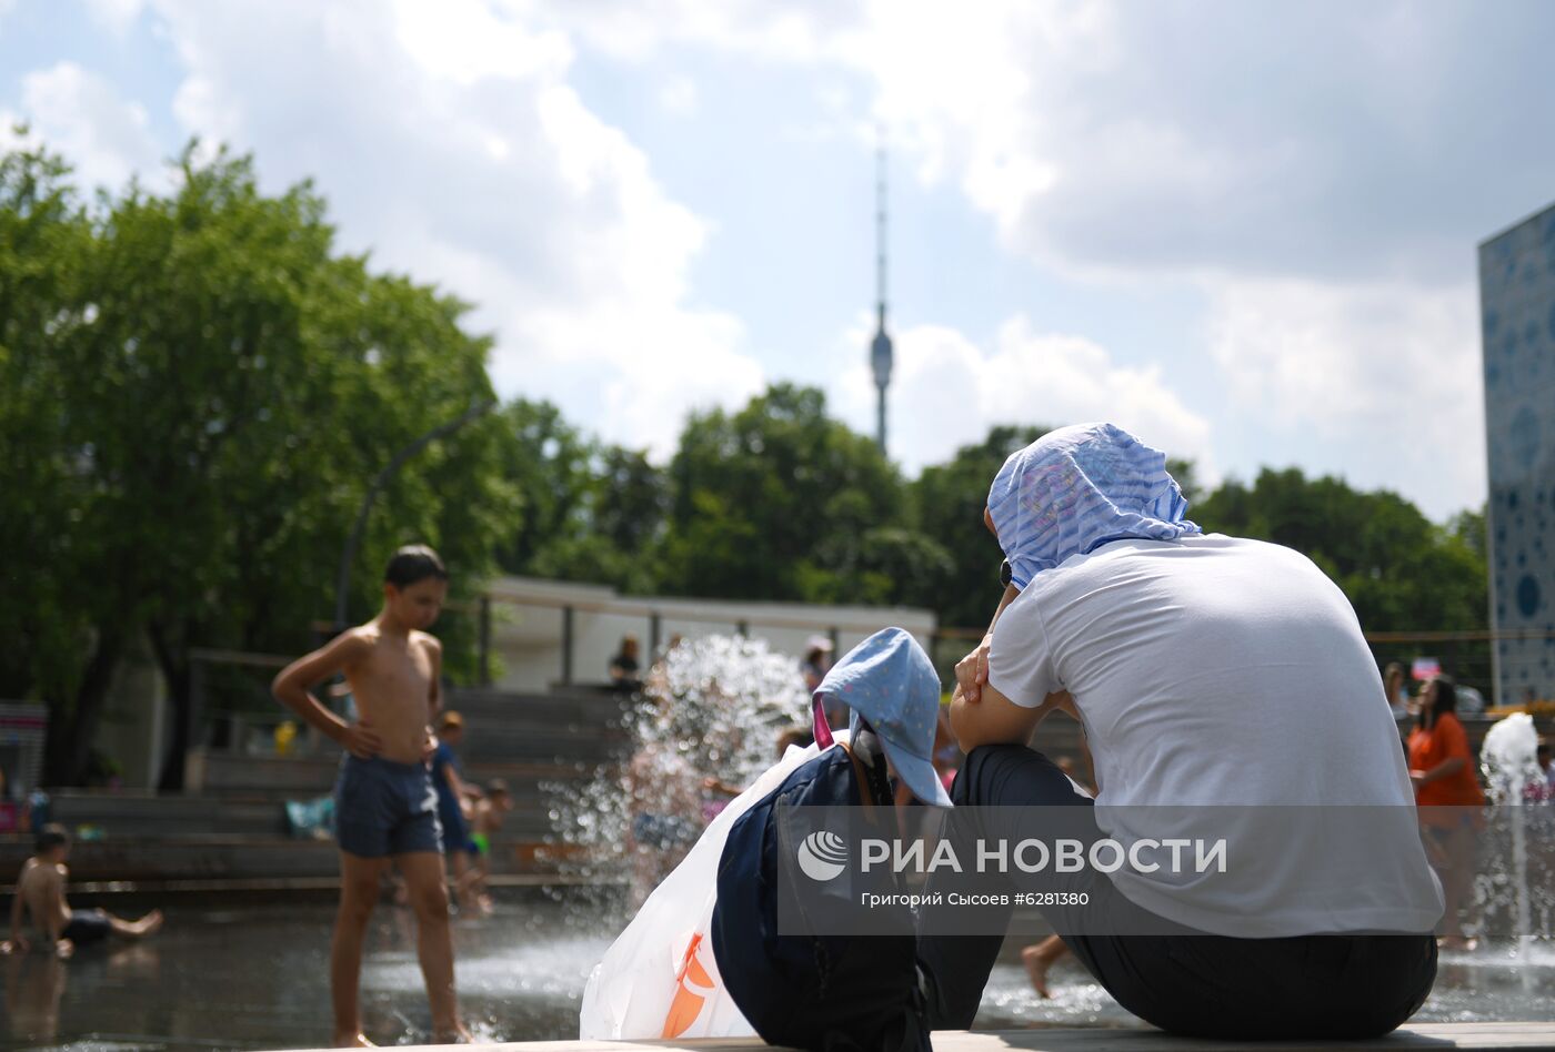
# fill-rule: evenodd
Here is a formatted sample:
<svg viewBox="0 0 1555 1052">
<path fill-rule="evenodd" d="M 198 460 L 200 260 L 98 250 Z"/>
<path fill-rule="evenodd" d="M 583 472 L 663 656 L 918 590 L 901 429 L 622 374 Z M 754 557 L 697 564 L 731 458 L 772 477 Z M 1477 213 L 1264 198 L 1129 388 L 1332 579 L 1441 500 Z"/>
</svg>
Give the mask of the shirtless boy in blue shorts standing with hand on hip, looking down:
<svg viewBox="0 0 1555 1052">
<path fill-rule="evenodd" d="M 362 939 L 387 862 L 404 875 L 417 915 L 417 951 L 439 1041 L 468 1040 L 454 1001 L 454 943 L 448 923 L 437 791 L 426 757 L 428 724 L 442 705 L 443 648 L 431 628 L 448 594 L 448 570 L 432 549 L 407 545 L 384 570 L 378 617 L 336 636 L 275 678 L 275 698 L 341 743 L 348 754 L 334 786 L 341 841 L 341 912 L 330 945 L 334 1044 L 365 1047 L 358 1010 Z M 344 673 L 361 718 L 345 723 L 309 693 Z"/>
</svg>

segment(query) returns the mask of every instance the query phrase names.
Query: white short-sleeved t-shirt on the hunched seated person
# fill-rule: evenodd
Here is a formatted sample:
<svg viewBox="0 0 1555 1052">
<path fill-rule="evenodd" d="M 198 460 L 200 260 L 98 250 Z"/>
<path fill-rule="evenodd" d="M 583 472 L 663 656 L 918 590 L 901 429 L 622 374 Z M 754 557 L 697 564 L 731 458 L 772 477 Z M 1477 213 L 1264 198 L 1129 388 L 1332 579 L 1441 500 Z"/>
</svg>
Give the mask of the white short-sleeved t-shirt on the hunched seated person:
<svg viewBox="0 0 1555 1052">
<path fill-rule="evenodd" d="M 1440 918 L 1376 664 L 1306 556 L 1221 535 L 1104 544 L 1005 609 L 989 682 L 1026 707 L 1070 691 L 1112 839 L 1232 834 L 1224 873 L 1112 873 L 1135 904 L 1241 937 Z M 1373 806 L 1328 810 L 1353 805 Z"/>
</svg>

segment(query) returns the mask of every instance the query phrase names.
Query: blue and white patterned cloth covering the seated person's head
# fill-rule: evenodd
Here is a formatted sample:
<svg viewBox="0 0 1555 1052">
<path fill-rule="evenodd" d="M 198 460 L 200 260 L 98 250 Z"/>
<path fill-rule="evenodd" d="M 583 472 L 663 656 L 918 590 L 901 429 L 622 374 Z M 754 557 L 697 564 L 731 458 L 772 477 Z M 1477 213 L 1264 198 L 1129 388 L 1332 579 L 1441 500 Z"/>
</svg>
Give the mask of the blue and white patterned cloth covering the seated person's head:
<svg viewBox="0 0 1555 1052">
<path fill-rule="evenodd" d="M 1200 533 L 1166 472 L 1166 454 L 1116 424 L 1059 427 L 1011 454 L 987 491 L 1011 583 L 1107 541 L 1176 541 Z"/>
</svg>

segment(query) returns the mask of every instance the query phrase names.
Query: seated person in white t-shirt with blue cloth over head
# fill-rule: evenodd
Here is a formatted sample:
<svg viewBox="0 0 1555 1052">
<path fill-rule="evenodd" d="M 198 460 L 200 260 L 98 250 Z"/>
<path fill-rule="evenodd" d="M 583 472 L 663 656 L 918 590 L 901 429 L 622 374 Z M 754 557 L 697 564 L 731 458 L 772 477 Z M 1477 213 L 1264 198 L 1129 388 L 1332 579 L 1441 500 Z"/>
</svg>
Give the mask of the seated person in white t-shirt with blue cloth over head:
<svg viewBox="0 0 1555 1052">
<path fill-rule="evenodd" d="M 950 723 L 969 755 L 955 814 L 981 838 L 1079 822 L 1127 850 L 1162 827 L 1230 836 L 1222 872 L 1050 875 L 1087 904 L 1043 914 L 1162 1029 L 1387 1033 L 1431 991 L 1441 889 L 1372 653 L 1309 559 L 1205 536 L 1186 510 L 1165 457 L 1112 424 L 1051 432 L 1005 463 L 984 522 L 1006 590 L 956 667 Z M 1054 709 L 1084 724 L 1095 802 L 1026 747 Z M 977 1013 L 1011 914 L 992 909 L 980 935 L 963 934 L 967 917 L 927 918 L 935 1027 Z"/>
</svg>

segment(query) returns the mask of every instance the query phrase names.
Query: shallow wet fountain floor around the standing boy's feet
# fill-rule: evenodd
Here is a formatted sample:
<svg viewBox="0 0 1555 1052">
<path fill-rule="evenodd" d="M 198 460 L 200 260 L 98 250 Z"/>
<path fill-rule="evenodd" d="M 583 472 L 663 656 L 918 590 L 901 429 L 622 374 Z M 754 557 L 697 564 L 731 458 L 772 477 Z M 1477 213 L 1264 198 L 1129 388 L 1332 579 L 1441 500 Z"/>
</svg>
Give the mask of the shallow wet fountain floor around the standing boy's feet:
<svg viewBox="0 0 1555 1052">
<path fill-rule="evenodd" d="M 589 970 L 611 932 L 532 895 L 493 917 L 454 925 L 465 1018 L 485 1041 L 577 1036 Z M 42 954 L 0 960 L 8 1049 L 283 1049 L 330 1036 L 328 943 L 333 909 L 322 903 L 232 911 L 166 909 L 166 928 L 137 945 L 92 948 L 68 962 Z M 1437 988 L 1417 1021 L 1476 1022 L 1549 1018 L 1555 949 L 1533 963 L 1505 953 L 1445 954 Z M 1019 965 L 994 970 L 978 1029 L 1137 1026 L 1073 962 L 1039 999 Z M 381 1044 L 428 1038 L 414 923 L 379 907 L 362 968 L 367 1033 Z"/>
</svg>

